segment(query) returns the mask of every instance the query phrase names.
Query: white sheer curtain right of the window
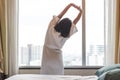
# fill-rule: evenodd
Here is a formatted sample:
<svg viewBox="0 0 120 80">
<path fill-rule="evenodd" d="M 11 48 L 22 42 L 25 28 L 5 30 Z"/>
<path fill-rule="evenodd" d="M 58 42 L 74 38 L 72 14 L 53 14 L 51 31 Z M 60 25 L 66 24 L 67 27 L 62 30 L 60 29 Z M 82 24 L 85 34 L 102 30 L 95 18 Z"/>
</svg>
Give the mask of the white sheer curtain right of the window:
<svg viewBox="0 0 120 80">
<path fill-rule="evenodd" d="M 105 65 L 114 64 L 116 0 L 105 0 Z"/>
</svg>

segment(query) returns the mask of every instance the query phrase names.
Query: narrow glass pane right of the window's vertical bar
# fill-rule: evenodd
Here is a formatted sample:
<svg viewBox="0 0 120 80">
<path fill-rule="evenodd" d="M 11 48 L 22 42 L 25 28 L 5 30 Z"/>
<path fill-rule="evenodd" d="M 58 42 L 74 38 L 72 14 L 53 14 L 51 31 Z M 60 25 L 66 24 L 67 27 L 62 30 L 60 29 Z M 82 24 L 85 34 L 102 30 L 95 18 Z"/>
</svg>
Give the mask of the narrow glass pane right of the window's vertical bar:
<svg viewBox="0 0 120 80">
<path fill-rule="evenodd" d="M 104 0 L 86 0 L 86 65 L 104 64 Z"/>
</svg>

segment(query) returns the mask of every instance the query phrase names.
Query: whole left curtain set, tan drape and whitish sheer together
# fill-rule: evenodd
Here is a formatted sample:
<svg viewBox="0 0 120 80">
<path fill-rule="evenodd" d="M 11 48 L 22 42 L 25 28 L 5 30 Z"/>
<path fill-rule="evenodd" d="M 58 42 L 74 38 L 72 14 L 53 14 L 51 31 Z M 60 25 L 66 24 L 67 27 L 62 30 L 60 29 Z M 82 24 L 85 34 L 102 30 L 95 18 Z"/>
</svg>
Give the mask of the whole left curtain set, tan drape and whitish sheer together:
<svg viewBox="0 0 120 80">
<path fill-rule="evenodd" d="M 0 0 L 0 67 L 8 76 L 18 73 L 17 6 L 18 0 Z"/>
</svg>

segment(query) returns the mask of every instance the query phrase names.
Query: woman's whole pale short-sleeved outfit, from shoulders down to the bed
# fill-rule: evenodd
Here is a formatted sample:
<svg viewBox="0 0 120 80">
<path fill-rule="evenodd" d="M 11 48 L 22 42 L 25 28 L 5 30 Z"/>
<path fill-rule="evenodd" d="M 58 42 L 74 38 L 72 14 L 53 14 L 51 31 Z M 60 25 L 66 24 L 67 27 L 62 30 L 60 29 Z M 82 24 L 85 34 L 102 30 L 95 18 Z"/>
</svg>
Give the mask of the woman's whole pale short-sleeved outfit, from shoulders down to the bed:
<svg viewBox="0 0 120 80">
<path fill-rule="evenodd" d="M 57 16 L 53 16 L 53 19 L 50 21 L 48 26 L 43 48 L 41 74 L 64 74 L 61 48 L 69 37 L 64 38 L 60 36 L 59 32 L 55 31 L 54 26 L 58 21 L 59 18 Z M 70 36 L 75 32 L 77 32 L 77 28 L 72 24 Z"/>
</svg>

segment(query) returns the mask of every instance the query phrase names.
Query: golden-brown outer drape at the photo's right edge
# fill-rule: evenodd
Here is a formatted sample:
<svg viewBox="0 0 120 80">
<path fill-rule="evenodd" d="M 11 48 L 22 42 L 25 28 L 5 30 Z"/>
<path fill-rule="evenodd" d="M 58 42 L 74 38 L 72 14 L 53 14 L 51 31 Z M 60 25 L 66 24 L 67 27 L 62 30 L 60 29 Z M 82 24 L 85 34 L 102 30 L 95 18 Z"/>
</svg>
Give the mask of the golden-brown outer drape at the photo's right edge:
<svg viewBox="0 0 120 80">
<path fill-rule="evenodd" d="M 120 63 L 120 0 L 116 3 L 115 64 Z"/>
</svg>

